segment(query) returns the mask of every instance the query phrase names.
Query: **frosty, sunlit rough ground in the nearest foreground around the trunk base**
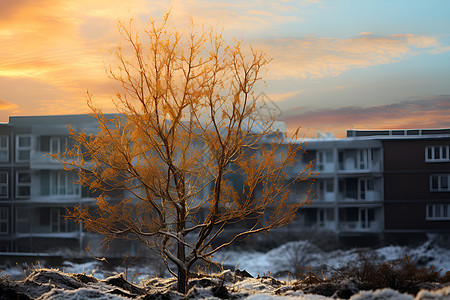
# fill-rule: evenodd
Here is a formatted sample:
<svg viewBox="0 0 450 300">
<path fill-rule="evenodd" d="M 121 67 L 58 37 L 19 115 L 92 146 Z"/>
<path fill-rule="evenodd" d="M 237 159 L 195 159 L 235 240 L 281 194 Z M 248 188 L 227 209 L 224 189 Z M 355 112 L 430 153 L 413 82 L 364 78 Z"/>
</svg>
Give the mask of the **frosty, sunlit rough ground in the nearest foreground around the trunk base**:
<svg viewBox="0 0 450 300">
<path fill-rule="evenodd" d="M 248 278 L 230 270 L 191 279 L 187 297 L 175 291 L 173 278 L 148 278 L 139 284 L 126 281 L 121 274 L 97 280 L 85 274 L 68 274 L 53 269 L 34 270 L 26 280 L 0 279 L 0 299 L 38 300 L 125 300 L 125 299 L 251 299 L 251 300 L 324 300 L 336 299 L 308 294 L 299 282 L 281 282 L 272 277 Z M 344 288 L 345 283 L 342 283 Z M 339 298 L 338 298 L 339 299 Z M 351 300 L 445 300 L 450 286 L 434 291 L 422 290 L 415 297 L 392 289 L 357 291 Z"/>
</svg>

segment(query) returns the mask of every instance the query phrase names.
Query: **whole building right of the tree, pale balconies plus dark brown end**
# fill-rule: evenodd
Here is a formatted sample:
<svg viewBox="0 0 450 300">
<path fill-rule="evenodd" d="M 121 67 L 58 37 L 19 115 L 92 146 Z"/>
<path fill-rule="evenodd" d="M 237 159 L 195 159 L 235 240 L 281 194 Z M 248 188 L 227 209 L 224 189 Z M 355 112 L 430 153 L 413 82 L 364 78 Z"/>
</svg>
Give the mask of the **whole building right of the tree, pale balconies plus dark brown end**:
<svg viewBox="0 0 450 300">
<path fill-rule="evenodd" d="M 360 245 L 450 235 L 450 129 L 348 130 L 304 147 L 318 172 L 315 195 L 292 229 Z"/>
</svg>

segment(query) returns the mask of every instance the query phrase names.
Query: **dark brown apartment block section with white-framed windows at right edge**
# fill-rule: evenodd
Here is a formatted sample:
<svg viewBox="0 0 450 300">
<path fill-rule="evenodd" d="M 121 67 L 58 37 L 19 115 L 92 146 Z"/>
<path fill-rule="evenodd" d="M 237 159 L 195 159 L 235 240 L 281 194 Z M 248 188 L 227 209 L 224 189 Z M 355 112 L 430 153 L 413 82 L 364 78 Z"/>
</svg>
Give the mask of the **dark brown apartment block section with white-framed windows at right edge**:
<svg viewBox="0 0 450 300">
<path fill-rule="evenodd" d="M 394 131 L 383 140 L 385 237 L 450 233 L 450 130 Z M 391 132 L 392 133 L 392 132 Z"/>
</svg>

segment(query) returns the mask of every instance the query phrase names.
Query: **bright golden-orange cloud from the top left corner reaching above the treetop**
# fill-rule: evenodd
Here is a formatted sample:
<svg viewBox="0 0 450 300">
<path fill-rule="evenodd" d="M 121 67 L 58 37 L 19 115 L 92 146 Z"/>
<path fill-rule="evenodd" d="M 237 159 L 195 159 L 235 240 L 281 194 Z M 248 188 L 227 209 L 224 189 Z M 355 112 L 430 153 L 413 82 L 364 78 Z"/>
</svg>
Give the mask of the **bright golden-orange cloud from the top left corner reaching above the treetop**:
<svg viewBox="0 0 450 300">
<path fill-rule="evenodd" d="M 72 111 L 83 105 L 88 88 L 95 93 L 96 101 L 108 107 L 112 89 L 104 72 L 108 65 L 104 59 L 119 41 L 117 20 L 133 17 L 148 21 L 148 16 L 161 18 L 170 9 L 171 26 L 177 28 L 191 16 L 199 24 L 220 22 L 219 26 L 230 31 L 263 31 L 277 22 L 297 20 L 292 14 L 296 4 L 268 1 L 262 5 L 259 0 L 0 1 L 0 44 L 7 45 L 0 47 L 0 77 L 39 81 L 62 95 L 58 103 L 51 95 L 47 99 L 28 99 L 39 102 L 36 106 L 41 113 L 62 108 Z M 0 97 L 5 98 L 2 92 Z M 27 108 L 18 109 L 24 113 Z"/>
</svg>

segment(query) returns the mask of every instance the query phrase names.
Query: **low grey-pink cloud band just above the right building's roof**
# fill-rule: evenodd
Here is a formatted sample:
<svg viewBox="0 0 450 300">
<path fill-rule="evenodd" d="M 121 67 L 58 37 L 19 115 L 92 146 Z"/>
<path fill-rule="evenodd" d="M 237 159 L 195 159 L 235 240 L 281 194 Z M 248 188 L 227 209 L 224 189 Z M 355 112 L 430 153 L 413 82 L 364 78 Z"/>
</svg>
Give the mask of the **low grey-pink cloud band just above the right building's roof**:
<svg viewBox="0 0 450 300">
<path fill-rule="evenodd" d="M 408 100 L 389 105 L 345 106 L 336 109 L 292 109 L 283 121 L 288 130 L 302 127 L 309 136 L 328 131 L 342 137 L 351 129 L 450 128 L 450 96 Z"/>
</svg>

